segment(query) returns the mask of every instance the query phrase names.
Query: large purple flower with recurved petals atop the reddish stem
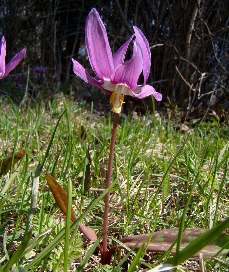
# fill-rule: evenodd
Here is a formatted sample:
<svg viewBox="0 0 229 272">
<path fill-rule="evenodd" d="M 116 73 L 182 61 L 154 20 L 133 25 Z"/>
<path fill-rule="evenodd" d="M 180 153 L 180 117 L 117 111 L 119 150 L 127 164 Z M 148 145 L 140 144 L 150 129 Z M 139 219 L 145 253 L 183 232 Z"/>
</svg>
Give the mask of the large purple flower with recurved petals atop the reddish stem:
<svg viewBox="0 0 229 272">
<path fill-rule="evenodd" d="M 78 61 L 72 59 L 73 70 L 77 76 L 111 95 L 111 110 L 116 113 L 121 112 L 124 95 L 145 98 L 152 94 L 156 100 L 162 100 L 159 92 L 146 85 L 151 64 L 149 43 L 139 28 L 134 26 L 133 29 L 136 37 L 133 41 L 133 55 L 124 62 L 127 47 L 134 35 L 112 56 L 105 26 L 99 13 L 93 8 L 86 19 L 85 40 L 91 67 L 99 80 L 90 76 Z M 137 85 L 142 71 L 144 82 Z"/>
</svg>

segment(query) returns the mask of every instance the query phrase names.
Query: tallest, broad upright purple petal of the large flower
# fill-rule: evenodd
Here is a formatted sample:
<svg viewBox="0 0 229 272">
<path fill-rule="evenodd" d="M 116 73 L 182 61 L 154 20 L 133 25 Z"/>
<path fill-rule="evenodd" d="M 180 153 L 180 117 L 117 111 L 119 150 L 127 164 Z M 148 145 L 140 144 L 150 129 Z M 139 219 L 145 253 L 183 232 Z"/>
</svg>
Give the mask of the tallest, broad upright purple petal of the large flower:
<svg viewBox="0 0 229 272">
<path fill-rule="evenodd" d="M 105 26 L 95 8 L 86 20 L 86 49 L 93 71 L 99 79 L 110 78 L 113 70 L 113 58 Z"/>
</svg>

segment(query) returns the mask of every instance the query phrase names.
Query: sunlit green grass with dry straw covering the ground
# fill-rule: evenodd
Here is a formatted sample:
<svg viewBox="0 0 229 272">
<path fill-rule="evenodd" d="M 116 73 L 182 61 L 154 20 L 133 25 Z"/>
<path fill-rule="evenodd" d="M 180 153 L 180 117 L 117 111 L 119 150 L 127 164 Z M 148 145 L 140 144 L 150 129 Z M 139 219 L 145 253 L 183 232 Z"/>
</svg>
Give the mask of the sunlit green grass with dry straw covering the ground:
<svg viewBox="0 0 229 272">
<path fill-rule="evenodd" d="M 12 154 L 13 150 L 26 150 L 26 156 L 0 180 L 0 232 L 3 237 L 0 264 L 3 271 L 8 259 L 11 259 L 11 265 L 23 265 L 25 270 L 57 269 L 58 257 L 64 255 L 64 259 L 67 258 L 64 248 L 64 235 L 65 241 L 67 235 L 56 228 L 63 219 L 46 184 L 45 173 L 52 174 L 66 191 L 72 184 L 72 197 L 79 209 L 83 197 L 83 212 L 92 204 L 84 216 L 101 234 L 104 200 L 97 204 L 95 201 L 105 188 L 113 115 L 99 115 L 93 112 L 93 107 L 72 102 L 64 96 L 33 106 L 21 104 L 18 107 L 10 99 L 1 100 L 0 105 L 0 159 Z M 217 120 L 184 127 L 179 120 L 171 120 L 162 114 L 155 118 L 148 111 L 138 118 L 135 116 L 119 118 L 108 224 L 108 237 L 112 238 L 109 245 L 113 244 L 113 238 L 179 227 L 181 220 L 185 227 L 212 228 L 228 218 L 228 127 L 220 126 Z M 92 172 L 89 191 L 83 195 L 78 188 L 87 143 L 90 144 Z M 165 186 L 161 186 L 162 179 L 167 183 L 166 194 L 163 191 Z M 186 207 L 186 216 L 182 217 L 194 181 L 196 186 Z M 158 186 L 161 186 L 159 190 Z M 77 209 L 75 212 L 80 216 Z M 29 229 L 32 229 L 31 238 Z M 72 229 L 67 224 L 69 237 Z M 43 235 L 45 230 L 49 233 Z M 77 241 L 70 241 L 69 251 L 71 243 L 74 245 Z M 19 246 L 22 249 L 14 260 L 12 254 Z M 98 252 L 87 252 L 89 248 L 85 244 L 77 252 L 69 253 L 71 269 L 80 263 L 79 256 L 85 254 L 87 257 L 82 264 L 87 269 L 97 266 Z M 55 254 L 47 258 L 50 252 L 55 253 L 56 258 L 53 257 Z M 93 259 L 90 259 L 92 254 Z M 143 262 L 141 254 L 142 251 L 138 251 L 134 260 L 144 269 L 154 267 L 157 264 L 154 265 L 154 261 L 165 260 L 159 255 L 147 255 L 151 261 Z M 131 256 L 126 262 L 134 258 Z M 205 264 L 209 270 L 227 270 L 226 262 L 227 257 L 218 256 Z M 61 265 L 64 267 L 63 263 Z M 186 267 L 188 263 L 182 265 Z"/>
</svg>

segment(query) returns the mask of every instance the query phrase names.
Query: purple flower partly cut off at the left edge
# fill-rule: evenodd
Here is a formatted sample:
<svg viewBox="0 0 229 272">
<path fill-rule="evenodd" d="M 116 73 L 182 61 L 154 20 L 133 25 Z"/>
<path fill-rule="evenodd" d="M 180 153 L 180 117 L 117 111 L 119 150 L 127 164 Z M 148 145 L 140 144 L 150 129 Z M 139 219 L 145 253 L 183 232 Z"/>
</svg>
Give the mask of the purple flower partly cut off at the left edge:
<svg viewBox="0 0 229 272">
<path fill-rule="evenodd" d="M 3 79 L 8 73 L 13 70 L 17 64 L 24 58 L 26 54 L 25 48 L 18 52 L 12 60 L 5 66 L 5 56 L 6 56 L 6 43 L 5 38 L 2 36 L 1 39 L 1 52 L 0 52 L 0 79 Z"/>
</svg>

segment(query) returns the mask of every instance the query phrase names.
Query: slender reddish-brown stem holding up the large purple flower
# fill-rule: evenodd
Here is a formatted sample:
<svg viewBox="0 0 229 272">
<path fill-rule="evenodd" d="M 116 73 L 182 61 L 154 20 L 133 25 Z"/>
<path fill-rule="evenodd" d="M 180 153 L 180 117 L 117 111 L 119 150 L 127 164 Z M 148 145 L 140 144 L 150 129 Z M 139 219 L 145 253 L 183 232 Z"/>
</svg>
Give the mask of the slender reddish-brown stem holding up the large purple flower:
<svg viewBox="0 0 229 272">
<path fill-rule="evenodd" d="M 111 145 L 110 145 L 110 154 L 109 154 L 109 162 L 108 162 L 108 170 L 107 170 L 107 184 L 106 188 L 111 185 L 111 176 L 112 176 L 112 166 L 113 166 L 113 159 L 114 159 L 114 146 L 115 146 L 115 139 L 118 127 L 118 113 L 114 114 L 114 123 L 112 128 L 111 134 Z M 107 230 L 108 230 L 108 215 L 109 215 L 109 202 L 110 202 L 110 191 L 105 196 L 105 210 L 104 210 L 104 221 L 103 221 L 103 255 L 104 257 L 107 254 Z"/>
</svg>

